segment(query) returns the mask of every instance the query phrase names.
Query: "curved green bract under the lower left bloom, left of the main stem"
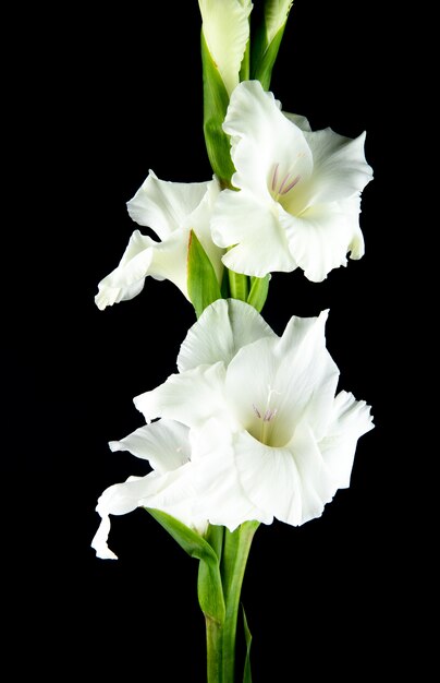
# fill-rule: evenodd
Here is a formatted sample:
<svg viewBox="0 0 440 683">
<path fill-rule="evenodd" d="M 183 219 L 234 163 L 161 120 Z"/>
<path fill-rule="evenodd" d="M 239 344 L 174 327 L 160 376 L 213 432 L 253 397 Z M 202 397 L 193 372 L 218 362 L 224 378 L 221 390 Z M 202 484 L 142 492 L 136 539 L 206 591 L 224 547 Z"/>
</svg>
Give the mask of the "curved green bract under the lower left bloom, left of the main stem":
<svg viewBox="0 0 440 683">
<path fill-rule="evenodd" d="M 225 608 L 220 576 L 220 558 L 208 541 L 175 517 L 152 507 L 145 508 L 192 558 L 200 560 L 198 568 L 198 601 L 211 621 L 222 624 Z M 221 527 L 222 528 L 222 527 Z M 219 532 L 216 532 L 219 535 Z M 218 538 L 216 539 L 218 541 Z"/>
</svg>

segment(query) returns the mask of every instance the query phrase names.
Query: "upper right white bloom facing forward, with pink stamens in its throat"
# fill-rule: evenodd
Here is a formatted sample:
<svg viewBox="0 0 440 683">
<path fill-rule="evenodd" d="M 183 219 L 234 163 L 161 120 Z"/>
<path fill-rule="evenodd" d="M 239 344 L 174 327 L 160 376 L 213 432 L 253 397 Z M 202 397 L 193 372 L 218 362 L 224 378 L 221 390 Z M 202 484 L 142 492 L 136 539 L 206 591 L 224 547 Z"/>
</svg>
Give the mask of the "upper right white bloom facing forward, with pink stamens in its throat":
<svg viewBox="0 0 440 683">
<path fill-rule="evenodd" d="M 300 266 L 320 281 L 346 265 L 347 252 L 360 259 L 360 192 L 372 178 L 365 133 L 352 140 L 331 129 L 311 132 L 258 81 L 234 89 L 223 129 L 240 190 L 220 193 L 211 221 L 213 241 L 232 247 L 224 265 L 258 277 Z"/>
</svg>

